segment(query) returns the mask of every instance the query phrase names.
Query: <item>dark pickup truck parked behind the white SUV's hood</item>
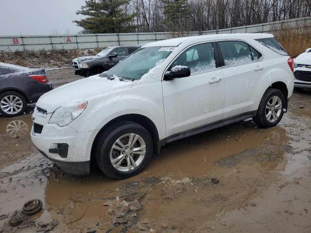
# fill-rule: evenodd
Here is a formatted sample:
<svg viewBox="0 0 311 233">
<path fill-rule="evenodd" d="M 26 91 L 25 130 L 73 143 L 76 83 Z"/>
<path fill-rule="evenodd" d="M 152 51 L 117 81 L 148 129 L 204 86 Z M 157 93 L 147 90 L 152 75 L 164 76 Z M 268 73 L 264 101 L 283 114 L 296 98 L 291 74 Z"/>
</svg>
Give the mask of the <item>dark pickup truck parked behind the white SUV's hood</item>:
<svg viewBox="0 0 311 233">
<path fill-rule="evenodd" d="M 72 60 L 72 67 L 76 75 L 88 77 L 103 73 L 117 65 L 121 60 L 139 47 L 115 46 L 107 47 L 95 56 L 77 57 Z"/>
</svg>

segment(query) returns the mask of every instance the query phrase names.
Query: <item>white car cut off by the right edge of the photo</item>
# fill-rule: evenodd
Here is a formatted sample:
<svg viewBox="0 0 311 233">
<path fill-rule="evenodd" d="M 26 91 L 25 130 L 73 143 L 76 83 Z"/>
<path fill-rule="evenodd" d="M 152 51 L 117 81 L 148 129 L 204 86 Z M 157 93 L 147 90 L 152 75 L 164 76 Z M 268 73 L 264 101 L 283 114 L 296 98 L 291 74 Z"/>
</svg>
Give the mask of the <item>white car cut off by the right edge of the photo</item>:
<svg viewBox="0 0 311 233">
<path fill-rule="evenodd" d="M 311 48 L 294 59 L 294 86 L 311 88 Z"/>
</svg>

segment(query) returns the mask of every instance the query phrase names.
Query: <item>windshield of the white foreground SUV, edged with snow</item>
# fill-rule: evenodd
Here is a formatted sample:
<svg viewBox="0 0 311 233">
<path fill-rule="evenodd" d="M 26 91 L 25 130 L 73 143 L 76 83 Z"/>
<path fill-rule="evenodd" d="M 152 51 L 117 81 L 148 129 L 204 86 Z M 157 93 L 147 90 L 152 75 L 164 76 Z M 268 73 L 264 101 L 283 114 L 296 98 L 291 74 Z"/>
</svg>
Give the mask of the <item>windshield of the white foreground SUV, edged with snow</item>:
<svg viewBox="0 0 311 233">
<path fill-rule="evenodd" d="M 140 79 L 155 64 L 167 58 L 175 47 L 146 47 L 133 52 L 120 64 L 109 69 L 105 75 L 110 78 L 114 75 L 125 79 Z"/>
</svg>

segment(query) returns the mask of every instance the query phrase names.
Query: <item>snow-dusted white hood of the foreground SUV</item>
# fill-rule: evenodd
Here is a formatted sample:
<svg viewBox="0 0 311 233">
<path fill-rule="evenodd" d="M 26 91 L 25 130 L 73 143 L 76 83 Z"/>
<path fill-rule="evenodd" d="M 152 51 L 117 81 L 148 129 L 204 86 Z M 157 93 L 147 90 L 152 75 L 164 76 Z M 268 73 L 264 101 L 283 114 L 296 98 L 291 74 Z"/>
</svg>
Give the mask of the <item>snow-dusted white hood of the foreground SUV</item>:
<svg viewBox="0 0 311 233">
<path fill-rule="evenodd" d="M 95 75 L 65 84 L 45 93 L 37 101 L 36 106 L 52 113 L 56 108 L 69 102 L 91 101 L 132 86 L 132 81 L 108 80 Z"/>
</svg>

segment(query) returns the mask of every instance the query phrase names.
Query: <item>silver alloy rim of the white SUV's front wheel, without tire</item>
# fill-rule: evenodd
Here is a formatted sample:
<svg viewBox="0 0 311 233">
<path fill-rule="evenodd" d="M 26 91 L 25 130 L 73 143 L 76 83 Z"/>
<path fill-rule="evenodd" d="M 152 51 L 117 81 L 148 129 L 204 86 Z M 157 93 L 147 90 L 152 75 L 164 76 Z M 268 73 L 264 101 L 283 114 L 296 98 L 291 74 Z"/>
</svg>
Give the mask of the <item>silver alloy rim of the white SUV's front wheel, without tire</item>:
<svg viewBox="0 0 311 233">
<path fill-rule="evenodd" d="M 110 162 L 119 171 L 132 171 L 138 167 L 146 154 L 145 141 L 136 133 L 119 137 L 110 150 Z"/>
</svg>

